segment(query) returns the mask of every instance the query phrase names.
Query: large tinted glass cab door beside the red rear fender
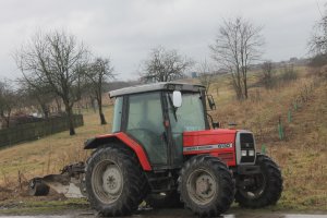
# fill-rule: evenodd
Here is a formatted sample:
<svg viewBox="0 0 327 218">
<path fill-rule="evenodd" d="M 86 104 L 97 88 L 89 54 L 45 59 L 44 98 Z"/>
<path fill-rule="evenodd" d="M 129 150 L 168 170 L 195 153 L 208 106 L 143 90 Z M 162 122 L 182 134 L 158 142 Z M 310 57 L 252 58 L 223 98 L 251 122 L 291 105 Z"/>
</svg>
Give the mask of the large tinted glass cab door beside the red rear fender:
<svg viewBox="0 0 327 218">
<path fill-rule="evenodd" d="M 126 133 L 147 153 L 153 167 L 167 167 L 168 149 L 159 92 L 128 97 Z"/>
</svg>

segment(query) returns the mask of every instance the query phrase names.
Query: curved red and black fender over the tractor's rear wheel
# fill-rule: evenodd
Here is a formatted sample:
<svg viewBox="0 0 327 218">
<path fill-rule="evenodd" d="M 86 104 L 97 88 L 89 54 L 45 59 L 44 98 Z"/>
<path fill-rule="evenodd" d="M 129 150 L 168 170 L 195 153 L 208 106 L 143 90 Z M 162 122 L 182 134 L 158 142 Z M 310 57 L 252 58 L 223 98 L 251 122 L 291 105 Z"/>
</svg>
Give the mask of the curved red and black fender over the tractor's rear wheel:
<svg viewBox="0 0 327 218">
<path fill-rule="evenodd" d="M 138 161 L 145 171 L 150 171 L 152 167 L 147 159 L 147 156 L 141 145 L 129 137 L 125 133 L 112 133 L 106 135 L 99 135 L 85 142 L 84 149 L 94 149 L 102 145 L 110 143 L 120 143 L 132 149 L 138 158 Z"/>
</svg>

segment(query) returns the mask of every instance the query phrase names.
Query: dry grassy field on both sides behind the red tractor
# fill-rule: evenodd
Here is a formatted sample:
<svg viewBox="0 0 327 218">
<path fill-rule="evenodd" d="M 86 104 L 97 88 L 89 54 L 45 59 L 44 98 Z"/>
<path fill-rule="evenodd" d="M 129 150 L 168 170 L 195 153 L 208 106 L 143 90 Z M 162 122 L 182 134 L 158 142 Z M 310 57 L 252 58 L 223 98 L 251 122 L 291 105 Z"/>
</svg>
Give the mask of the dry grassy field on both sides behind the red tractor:
<svg viewBox="0 0 327 218">
<path fill-rule="evenodd" d="M 280 166 L 284 190 L 278 205 L 271 209 L 327 210 L 327 82 L 312 76 L 305 68 L 299 78 L 274 89 L 255 86 L 257 77 L 250 75 L 250 97 L 238 101 L 227 76 L 216 78 L 210 93 L 217 102 L 211 114 L 223 128 L 229 122 L 238 129 L 252 130 L 257 149 L 266 153 Z M 298 109 L 294 102 L 298 101 Z M 291 122 L 288 111 L 291 111 Z M 111 122 L 112 107 L 105 113 Z M 279 120 L 284 138 L 277 131 Z M 99 125 L 97 113 L 84 112 L 85 125 L 75 136 L 68 132 L 24 143 L 0 150 L 0 184 L 17 185 L 17 174 L 26 179 L 58 173 L 66 164 L 85 160 L 85 140 L 110 132 L 110 124 Z"/>
</svg>

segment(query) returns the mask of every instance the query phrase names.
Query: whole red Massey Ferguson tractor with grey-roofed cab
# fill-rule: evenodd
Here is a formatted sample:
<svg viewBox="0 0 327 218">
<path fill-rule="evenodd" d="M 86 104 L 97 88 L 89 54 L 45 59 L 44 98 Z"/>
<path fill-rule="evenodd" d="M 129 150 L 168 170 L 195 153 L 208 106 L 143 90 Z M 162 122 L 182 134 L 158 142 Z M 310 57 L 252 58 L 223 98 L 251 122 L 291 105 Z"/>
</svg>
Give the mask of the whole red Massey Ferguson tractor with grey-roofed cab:
<svg viewBox="0 0 327 218">
<path fill-rule="evenodd" d="M 74 181 L 102 216 L 130 215 L 143 201 L 214 217 L 233 201 L 259 208 L 279 199 L 278 166 L 256 152 L 250 131 L 219 129 L 207 113 L 216 106 L 204 86 L 157 83 L 109 95 L 116 98 L 112 133 L 88 140 L 88 160 L 69 166 L 65 180 L 57 181 L 66 190 Z M 43 183 L 56 189 L 47 180 L 53 179 L 32 181 L 34 194 L 45 192 Z"/>
</svg>

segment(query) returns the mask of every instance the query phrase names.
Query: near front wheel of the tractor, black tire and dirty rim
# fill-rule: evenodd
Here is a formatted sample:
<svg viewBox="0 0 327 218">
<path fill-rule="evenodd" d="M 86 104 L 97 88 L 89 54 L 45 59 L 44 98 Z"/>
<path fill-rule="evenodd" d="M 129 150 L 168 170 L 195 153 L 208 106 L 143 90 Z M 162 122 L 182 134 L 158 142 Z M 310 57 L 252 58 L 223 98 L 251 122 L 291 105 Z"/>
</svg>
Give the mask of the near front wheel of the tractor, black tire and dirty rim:
<svg viewBox="0 0 327 218">
<path fill-rule="evenodd" d="M 179 191 L 185 207 L 201 217 L 221 215 L 234 199 L 234 183 L 229 169 L 218 158 L 205 155 L 184 164 Z"/>
</svg>

